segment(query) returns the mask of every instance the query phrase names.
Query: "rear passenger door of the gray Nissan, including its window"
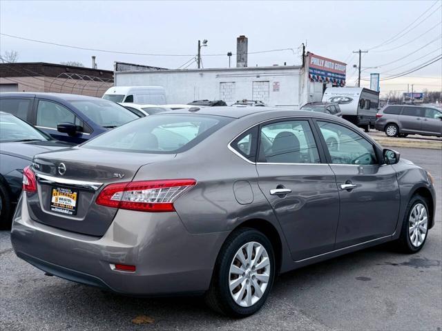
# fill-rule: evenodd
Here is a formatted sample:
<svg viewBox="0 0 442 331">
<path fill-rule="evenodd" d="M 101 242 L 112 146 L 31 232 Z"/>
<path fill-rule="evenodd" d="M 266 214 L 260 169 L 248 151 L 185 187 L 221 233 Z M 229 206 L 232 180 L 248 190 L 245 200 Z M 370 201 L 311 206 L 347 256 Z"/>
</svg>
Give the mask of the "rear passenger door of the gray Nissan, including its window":
<svg viewBox="0 0 442 331">
<path fill-rule="evenodd" d="M 292 259 L 333 250 L 338 190 L 311 123 L 306 119 L 263 123 L 258 154 L 258 184 L 285 233 Z"/>
</svg>

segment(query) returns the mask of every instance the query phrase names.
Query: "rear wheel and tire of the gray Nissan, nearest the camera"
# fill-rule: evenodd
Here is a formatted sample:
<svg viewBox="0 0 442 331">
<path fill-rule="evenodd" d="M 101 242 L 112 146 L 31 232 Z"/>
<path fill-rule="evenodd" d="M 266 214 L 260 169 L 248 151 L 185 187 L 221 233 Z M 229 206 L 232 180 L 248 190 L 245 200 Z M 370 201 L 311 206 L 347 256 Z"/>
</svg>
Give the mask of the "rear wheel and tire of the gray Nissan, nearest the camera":
<svg viewBox="0 0 442 331">
<path fill-rule="evenodd" d="M 273 247 L 252 228 L 234 231 L 220 250 L 206 303 L 229 317 L 247 317 L 264 305 L 275 277 Z"/>
</svg>

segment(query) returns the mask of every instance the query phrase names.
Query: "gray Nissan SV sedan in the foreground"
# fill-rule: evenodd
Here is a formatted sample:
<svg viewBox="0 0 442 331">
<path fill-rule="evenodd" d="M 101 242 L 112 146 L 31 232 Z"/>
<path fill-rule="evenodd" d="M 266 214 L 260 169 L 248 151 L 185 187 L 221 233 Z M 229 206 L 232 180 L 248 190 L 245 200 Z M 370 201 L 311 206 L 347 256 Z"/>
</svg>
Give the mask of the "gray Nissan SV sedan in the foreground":
<svg viewBox="0 0 442 331">
<path fill-rule="evenodd" d="M 386 241 L 418 252 L 434 225 L 428 172 L 338 117 L 265 107 L 133 121 L 37 155 L 23 190 L 21 259 L 122 294 L 204 293 L 232 317 L 280 272 Z"/>
</svg>

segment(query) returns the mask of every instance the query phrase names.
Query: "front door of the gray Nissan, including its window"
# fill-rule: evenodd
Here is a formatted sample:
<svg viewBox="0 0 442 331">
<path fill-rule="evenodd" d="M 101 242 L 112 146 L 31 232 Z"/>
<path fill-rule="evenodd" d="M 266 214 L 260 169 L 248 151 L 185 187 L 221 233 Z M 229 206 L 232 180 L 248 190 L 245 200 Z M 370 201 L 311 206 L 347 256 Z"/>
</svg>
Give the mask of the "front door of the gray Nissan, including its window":
<svg viewBox="0 0 442 331">
<path fill-rule="evenodd" d="M 352 128 L 316 121 L 329 165 L 336 175 L 340 213 L 336 249 L 393 234 L 398 221 L 399 187 L 392 165 L 378 161 L 376 146 Z M 338 147 L 325 137 L 338 137 Z"/>
</svg>

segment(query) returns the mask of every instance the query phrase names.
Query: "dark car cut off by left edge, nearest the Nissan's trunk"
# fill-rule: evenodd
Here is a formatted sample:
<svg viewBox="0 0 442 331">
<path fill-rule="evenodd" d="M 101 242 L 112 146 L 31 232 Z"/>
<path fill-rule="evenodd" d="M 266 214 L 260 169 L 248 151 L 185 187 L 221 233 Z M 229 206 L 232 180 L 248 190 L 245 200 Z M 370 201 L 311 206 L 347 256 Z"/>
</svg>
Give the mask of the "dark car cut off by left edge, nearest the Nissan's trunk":
<svg viewBox="0 0 442 331">
<path fill-rule="evenodd" d="M 29 123 L 0 112 L 0 227 L 10 225 L 22 186 L 23 168 L 35 154 L 70 148 L 70 143 L 52 139 Z"/>
</svg>

